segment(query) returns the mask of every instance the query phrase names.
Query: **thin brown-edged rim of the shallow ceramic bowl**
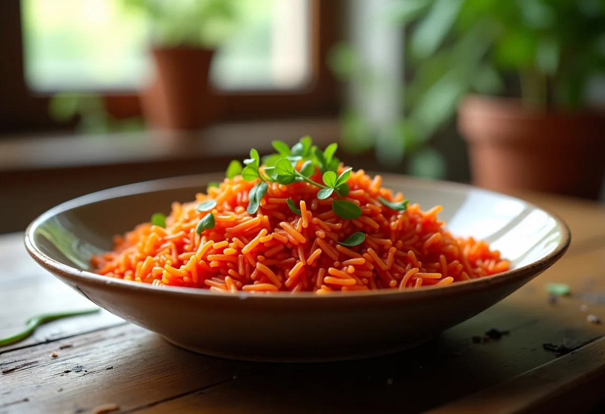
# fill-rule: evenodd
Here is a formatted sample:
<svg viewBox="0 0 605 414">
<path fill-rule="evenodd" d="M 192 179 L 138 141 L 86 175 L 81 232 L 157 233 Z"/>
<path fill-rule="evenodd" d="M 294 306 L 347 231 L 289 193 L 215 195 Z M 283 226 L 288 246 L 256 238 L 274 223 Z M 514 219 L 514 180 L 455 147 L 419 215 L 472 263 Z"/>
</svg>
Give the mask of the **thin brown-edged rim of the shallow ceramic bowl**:
<svg viewBox="0 0 605 414">
<path fill-rule="evenodd" d="M 391 173 L 368 172 L 368 174 L 379 174 L 383 177 L 383 179 L 387 180 L 403 180 L 405 185 L 412 186 L 414 188 L 446 188 L 448 189 L 448 191 L 454 191 L 462 194 L 468 194 L 468 192 L 470 191 L 480 191 L 483 194 L 497 195 L 499 197 L 505 197 L 510 200 L 522 202 L 526 206 L 543 211 L 550 217 L 554 218 L 558 227 L 561 229 L 561 240 L 558 245 L 552 250 L 552 252 L 549 252 L 549 254 L 547 254 L 540 260 L 533 261 L 532 263 L 526 264 L 525 266 L 521 266 L 520 268 L 510 269 L 506 272 L 502 272 L 495 275 L 465 281 L 457 281 L 456 283 L 450 283 L 446 286 L 426 286 L 423 289 L 404 289 L 403 291 L 399 291 L 398 289 L 377 289 L 376 291 L 369 292 L 335 292 L 335 294 L 330 295 L 317 295 L 314 292 L 298 292 L 295 295 L 291 294 L 290 292 L 250 294 L 243 291 L 240 291 L 237 294 L 217 294 L 215 292 L 209 291 L 208 289 L 195 289 L 192 287 L 162 286 L 161 288 L 158 288 L 156 286 L 152 286 L 152 284 L 149 283 L 136 283 L 133 281 L 122 280 L 118 278 L 110 278 L 103 275 L 94 274 L 91 271 L 73 268 L 71 266 L 68 266 L 67 264 L 60 263 L 59 261 L 54 260 L 54 258 L 51 258 L 50 256 L 44 254 L 38 248 L 34 241 L 34 232 L 42 223 L 44 223 L 51 217 L 55 217 L 56 215 L 70 211 L 71 209 L 95 202 L 100 202 L 103 200 L 117 199 L 129 195 L 143 194 L 145 192 L 165 191 L 169 189 L 178 188 L 191 188 L 195 186 L 202 187 L 204 184 L 201 183 L 207 183 L 213 180 L 215 181 L 217 179 L 221 180 L 224 177 L 222 173 L 206 173 L 189 176 L 170 177 L 157 180 L 148 180 L 145 182 L 117 186 L 114 188 L 108 188 L 103 189 L 101 191 L 92 192 L 87 195 L 82 195 L 81 197 L 77 197 L 76 199 L 61 203 L 39 215 L 33 220 L 33 222 L 30 223 L 30 225 L 27 226 L 24 237 L 25 248 L 27 249 L 30 256 L 40 266 L 42 266 L 42 268 L 46 269 L 51 273 L 60 274 L 63 277 L 66 277 L 73 281 L 83 279 L 90 283 L 103 286 L 115 284 L 117 289 L 133 292 L 141 292 L 142 290 L 143 292 L 149 294 L 157 294 L 161 292 L 163 295 L 185 295 L 187 297 L 206 297 L 213 298 L 215 300 L 227 301 L 239 301 L 242 299 L 251 299 L 253 301 L 275 301 L 283 300 L 284 298 L 287 298 L 287 300 L 289 301 L 309 300 L 309 298 L 314 298 L 314 300 L 347 300 L 348 298 L 348 300 L 351 300 L 353 298 L 359 299 L 375 297 L 391 298 L 392 300 L 403 300 L 404 298 L 405 300 L 419 300 L 427 296 L 441 297 L 443 295 L 458 295 L 473 289 L 482 289 L 486 286 L 514 283 L 517 280 L 530 277 L 531 275 L 538 274 L 548 269 L 550 266 L 552 266 L 552 264 L 558 261 L 565 254 L 571 243 L 571 231 L 569 229 L 569 226 L 567 226 L 567 223 L 564 222 L 564 220 L 562 220 L 557 214 L 554 214 L 548 209 L 538 207 L 526 200 L 513 197 L 512 195 L 503 194 L 500 192 L 495 192 L 472 185 L 448 182 L 445 180 L 420 179 L 416 177 L 405 176 L 403 174 Z"/>
</svg>

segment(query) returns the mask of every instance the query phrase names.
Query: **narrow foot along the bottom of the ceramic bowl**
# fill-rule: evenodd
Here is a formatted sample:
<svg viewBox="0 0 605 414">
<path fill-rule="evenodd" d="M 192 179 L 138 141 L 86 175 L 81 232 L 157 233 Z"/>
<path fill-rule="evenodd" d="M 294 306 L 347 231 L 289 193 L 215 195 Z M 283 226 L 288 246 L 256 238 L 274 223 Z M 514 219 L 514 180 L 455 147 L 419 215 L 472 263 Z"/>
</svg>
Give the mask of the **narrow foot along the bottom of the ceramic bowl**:
<svg viewBox="0 0 605 414">
<path fill-rule="evenodd" d="M 438 336 L 438 335 L 437 335 Z M 374 350 L 364 350 L 361 352 L 352 352 L 338 355 L 317 355 L 317 356 L 301 356 L 301 355 L 284 355 L 284 356 L 268 356 L 268 355 L 251 355 L 247 353 L 231 353 L 231 352 L 220 352 L 214 349 L 207 349 L 192 344 L 183 344 L 162 335 L 168 343 L 174 346 L 189 350 L 195 353 L 201 353 L 202 355 L 212 356 L 214 358 L 223 358 L 226 360 L 237 360 L 237 361 L 250 361 L 256 363 L 332 363 L 342 361 L 355 361 L 365 360 L 367 358 L 375 358 L 377 356 L 390 355 L 397 352 L 402 352 L 408 349 L 415 348 L 431 340 L 434 340 L 436 336 L 423 338 L 419 341 L 411 343 L 399 344 L 394 347 L 380 348 Z"/>
</svg>

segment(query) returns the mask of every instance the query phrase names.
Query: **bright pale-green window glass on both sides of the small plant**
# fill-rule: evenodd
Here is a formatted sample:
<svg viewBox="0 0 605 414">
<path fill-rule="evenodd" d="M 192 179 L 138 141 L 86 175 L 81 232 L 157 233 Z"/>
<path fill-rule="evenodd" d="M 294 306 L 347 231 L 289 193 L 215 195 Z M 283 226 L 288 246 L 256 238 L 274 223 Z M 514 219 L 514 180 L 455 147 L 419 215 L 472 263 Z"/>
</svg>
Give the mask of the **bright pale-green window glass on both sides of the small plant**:
<svg viewBox="0 0 605 414">
<path fill-rule="evenodd" d="M 136 90 L 149 81 L 149 28 L 123 0 L 21 4 L 25 78 L 33 90 Z M 214 84 L 264 90 L 309 82 L 309 0 L 237 4 L 241 21 L 215 57 Z"/>
</svg>

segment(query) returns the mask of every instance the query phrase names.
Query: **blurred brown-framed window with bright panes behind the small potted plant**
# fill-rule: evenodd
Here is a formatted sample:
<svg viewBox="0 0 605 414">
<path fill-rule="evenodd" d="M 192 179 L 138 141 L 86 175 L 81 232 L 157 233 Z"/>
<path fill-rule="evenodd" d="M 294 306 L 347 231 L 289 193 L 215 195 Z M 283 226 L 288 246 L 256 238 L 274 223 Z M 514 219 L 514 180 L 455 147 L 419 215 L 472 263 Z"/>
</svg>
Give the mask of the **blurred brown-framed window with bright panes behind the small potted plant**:
<svg viewBox="0 0 605 414">
<path fill-rule="evenodd" d="M 326 56 L 341 38 L 341 1 L 240 0 L 243 21 L 212 70 L 226 95 L 222 119 L 336 115 Z M 123 3 L 0 2 L 0 133 L 65 128 L 48 116 L 56 91 L 99 93 L 113 116 L 140 114 L 137 90 L 152 75 L 149 33 Z"/>
</svg>

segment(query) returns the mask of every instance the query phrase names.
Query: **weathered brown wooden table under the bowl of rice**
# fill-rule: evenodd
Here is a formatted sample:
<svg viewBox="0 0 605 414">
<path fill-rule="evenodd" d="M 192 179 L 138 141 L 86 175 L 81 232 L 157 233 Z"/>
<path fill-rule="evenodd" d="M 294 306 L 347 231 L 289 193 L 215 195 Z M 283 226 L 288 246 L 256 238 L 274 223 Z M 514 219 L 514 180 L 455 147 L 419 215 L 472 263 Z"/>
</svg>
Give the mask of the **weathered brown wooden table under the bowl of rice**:
<svg viewBox="0 0 605 414">
<path fill-rule="evenodd" d="M 571 248 L 545 274 L 432 343 L 348 363 L 245 363 L 178 349 L 103 311 L 54 321 L 0 348 L 0 414 L 92 413 L 102 404 L 145 414 L 587 412 L 602 402 L 605 385 L 605 327 L 587 321 L 605 319 L 605 209 L 524 198 L 567 221 Z M 28 257 L 21 234 L 0 237 L 0 259 L 0 337 L 31 315 L 90 307 Z M 569 284 L 572 294 L 551 303 L 551 281 Z M 471 339 L 491 328 L 510 332 Z M 572 352 L 558 356 L 545 343 Z"/>
</svg>

